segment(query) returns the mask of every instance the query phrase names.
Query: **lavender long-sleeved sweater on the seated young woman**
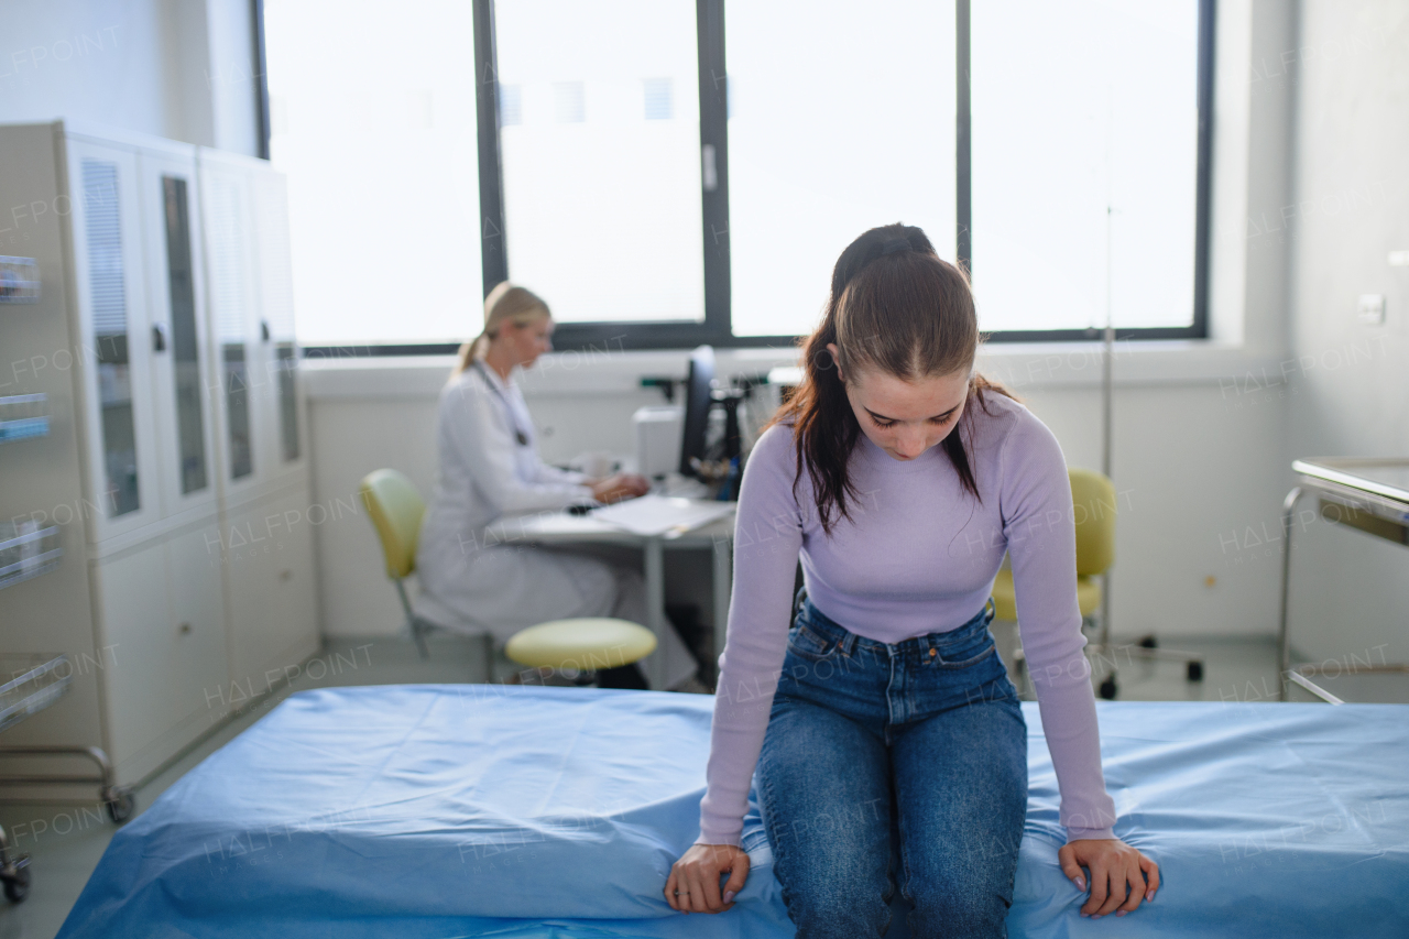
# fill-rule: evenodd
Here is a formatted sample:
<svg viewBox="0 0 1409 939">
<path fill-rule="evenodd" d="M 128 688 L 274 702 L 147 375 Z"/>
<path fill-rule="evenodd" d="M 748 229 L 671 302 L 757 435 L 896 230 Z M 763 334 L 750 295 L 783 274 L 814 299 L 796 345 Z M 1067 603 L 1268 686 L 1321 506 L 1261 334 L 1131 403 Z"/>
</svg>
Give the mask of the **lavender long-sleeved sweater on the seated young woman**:
<svg viewBox="0 0 1409 939">
<path fill-rule="evenodd" d="M 720 656 L 703 845 L 738 845 L 748 788 L 782 671 L 793 568 L 830 619 L 882 643 L 955 629 L 988 602 L 1012 556 L 1023 651 L 1061 788 L 1068 840 L 1115 837 L 1100 737 L 1076 606 L 1071 484 L 1057 438 L 1017 402 L 971 400 L 969 465 L 982 502 L 964 492 L 936 446 L 899 461 L 861 434 L 851 454 L 859 499 L 823 534 L 806 470 L 793 496 L 792 427 L 774 426 L 744 471 L 734 533 L 734 594 Z"/>
</svg>

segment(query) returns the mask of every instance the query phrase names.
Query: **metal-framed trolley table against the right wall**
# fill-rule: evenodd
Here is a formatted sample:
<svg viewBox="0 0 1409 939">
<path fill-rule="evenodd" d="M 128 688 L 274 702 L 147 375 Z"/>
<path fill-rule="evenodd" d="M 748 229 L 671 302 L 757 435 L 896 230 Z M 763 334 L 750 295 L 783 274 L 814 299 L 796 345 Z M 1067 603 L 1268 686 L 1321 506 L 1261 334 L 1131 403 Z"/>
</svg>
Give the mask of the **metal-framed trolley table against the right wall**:
<svg viewBox="0 0 1409 939">
<path fill-rule="evenodd" d="M 1292 577 L 1292 522 L 1296 502 L 1305 491 L 1315 492 L 1319 515 L 1327 522 L 1348 524 L 1367 534 L 1394 544 L 1409 546 L 1409 460 L 1372 460 L 1355 457 L 1317 457 L 1296 460 L 1292 470 L 1299 485 L 1282 502 L 1282 606 L 1278 629 L 1278 661 L 1282 675 L 1322 701 L 1344 704 L 1309 675 L 1315 665 L 1292 668 L 1291 639 L 1286 630 L 1286 605 Z M 1368 665 L 1358 671 L 1409 673 L 1405 664 Z M 1281 682 L 1281 699 L 1286 701 L 1286 682 Z"/>
</svg>

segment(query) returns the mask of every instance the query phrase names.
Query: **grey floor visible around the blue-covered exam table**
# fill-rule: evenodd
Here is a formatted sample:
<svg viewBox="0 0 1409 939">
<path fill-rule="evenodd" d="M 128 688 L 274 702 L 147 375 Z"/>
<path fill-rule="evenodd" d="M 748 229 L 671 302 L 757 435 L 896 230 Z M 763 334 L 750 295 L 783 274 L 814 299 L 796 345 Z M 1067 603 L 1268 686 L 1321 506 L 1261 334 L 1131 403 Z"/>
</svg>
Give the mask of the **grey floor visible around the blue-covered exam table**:
<svg viewBox="0 0 1409 939">
<path fill-rule="evenodd" d="M 1016 646 L 1016 629 L 995 622 L 993 633 L 1007 661 Z M 1174 661 L 1144 661 L 1130 644 L 1115 644 L 1093 663 L 1099 681 L 1115 663 L 1119 698 L 1124 701 L 1260 701 L 1277 698 L 1277 649 L 1271 640 L 1181 642 L 1181 647 L 1202 656 L 1202 681 L 1188 681 L 1185 665 Z M 464 682 L 480 681 L 483 651 L 478 642 L 455 637 L 431 640 L 431 657 L 421 661 L 414 647 L 397 639 L 330 643 L 320 654 L 327 668 L 306 667 L 303 674 L 265 701 L 237 715 L 200 742 L 137 792 L 138 812 L 149 806 L 172 782 L 214 753 L 241 730 L 268 713 L 293 691 L 330 685 Z M 347 663 L 352 661 L 352 665 Z M 313 663 L 310 663 L 313 664 Z M 320 674 L 314 680 L 309 673 Z M 511 675 L 513 665 L 496 663 L 496 677 Z M 1341 677 L 1324 682 L 1347 701 L 1409 701 L 1405 677 Z M 1029 695 L 1030 696 L 1030 695 Z M 1293 701 L 1313 698 L 1293 688 Z M 77 900 L 89 874 L 97 866 L 114 826 L 94 804 L 87 805 L 0 805 L 0 823 L 18 850 L 32 856 L 32 884 L 23 904 L 0 901 L 0 939 L 49 939 L 56 935 L 69 908 Z"/>
</svg>

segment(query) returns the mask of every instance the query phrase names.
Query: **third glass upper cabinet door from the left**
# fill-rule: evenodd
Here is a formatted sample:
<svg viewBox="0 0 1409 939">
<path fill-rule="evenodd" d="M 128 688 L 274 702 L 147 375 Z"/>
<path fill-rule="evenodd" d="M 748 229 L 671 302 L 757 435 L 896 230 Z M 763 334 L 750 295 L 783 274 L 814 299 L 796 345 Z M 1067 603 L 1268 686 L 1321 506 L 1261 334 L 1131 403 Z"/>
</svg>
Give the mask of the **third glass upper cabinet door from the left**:
<svg viewBox="0 0 1409 939">
<path fill-rule="evenodd" d="M 255 271 L 248 173 L 209 161 L 200 165 L 201 224 L 206 272 L 210 278 L 210 320 L 214 331 L 220 402 L 216 407 L 221 441 L 224 491 L 240 498 L 263 479 L 271 454 L 259 396 L 269 376 L 262 367 L 258 333 L 259 283 Z"/>
</svg>

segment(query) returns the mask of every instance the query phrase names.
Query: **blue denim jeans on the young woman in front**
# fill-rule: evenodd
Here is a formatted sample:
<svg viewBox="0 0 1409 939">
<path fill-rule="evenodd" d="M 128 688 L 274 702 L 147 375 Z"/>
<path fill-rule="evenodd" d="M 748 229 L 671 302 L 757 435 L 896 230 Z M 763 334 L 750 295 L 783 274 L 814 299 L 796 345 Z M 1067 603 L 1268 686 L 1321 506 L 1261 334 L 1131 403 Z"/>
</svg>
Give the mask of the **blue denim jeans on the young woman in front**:
<svg viewBox="0 0 1409 939">
<path fill-rule="evenodd" d="M 1027 812 L 1027 726 L 985 609 L 879 643 L 806 601 L 758 759 L 759 808 L 799 939 L 1005 936 Z"/>
</svg>

